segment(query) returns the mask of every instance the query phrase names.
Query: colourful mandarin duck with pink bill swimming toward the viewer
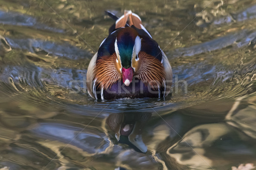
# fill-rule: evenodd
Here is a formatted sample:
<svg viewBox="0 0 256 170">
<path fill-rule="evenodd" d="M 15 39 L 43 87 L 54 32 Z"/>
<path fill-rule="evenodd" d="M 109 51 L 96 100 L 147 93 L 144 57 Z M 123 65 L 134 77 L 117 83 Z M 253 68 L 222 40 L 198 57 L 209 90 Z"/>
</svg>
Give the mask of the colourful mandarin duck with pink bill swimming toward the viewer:
<svg viewBox="0 0 256 170">
<path fill-rule="evenodd" d="M 172 91 L 172 67 L 166 54 L 142 24 L 125 10 L 87 68 L 86 85 L 93 99 L 161 98 Z"/>
</svg>

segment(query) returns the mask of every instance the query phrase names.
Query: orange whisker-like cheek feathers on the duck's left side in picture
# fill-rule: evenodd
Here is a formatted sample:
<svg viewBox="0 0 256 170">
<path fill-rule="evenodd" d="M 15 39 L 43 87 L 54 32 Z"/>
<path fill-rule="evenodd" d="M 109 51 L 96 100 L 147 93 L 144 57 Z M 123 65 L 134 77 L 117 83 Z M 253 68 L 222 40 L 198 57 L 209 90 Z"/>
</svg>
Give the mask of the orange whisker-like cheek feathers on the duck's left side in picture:
<svg viewBox="0 0 256 170">
<path fill-rule="evenodd" d="M 111 56 L 102 56 L 96 62 L 95 79 L 97 85 L 105 90 L 111 87 L 113 83 L 122 78 L 122 75 L 116 68 L 116 53 Z"/>
</svg>

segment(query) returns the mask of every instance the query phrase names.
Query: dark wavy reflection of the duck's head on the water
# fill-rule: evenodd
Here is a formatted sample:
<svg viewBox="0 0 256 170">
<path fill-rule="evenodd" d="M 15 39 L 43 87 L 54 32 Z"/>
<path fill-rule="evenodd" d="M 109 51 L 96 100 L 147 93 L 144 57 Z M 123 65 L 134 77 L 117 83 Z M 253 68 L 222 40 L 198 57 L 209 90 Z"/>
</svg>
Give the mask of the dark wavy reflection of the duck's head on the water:
<svg viewBox="0 0 256 170">
<path fill-rule="evenodd" d="M 151 118 L 151 113 L 115 113 L 108 116 L 106 122 L 116 134 L 119 143 L 128 144 L 140 153 L 147 152 L 147 146 L 142 140 L 145 124 Z"/>
</svg>

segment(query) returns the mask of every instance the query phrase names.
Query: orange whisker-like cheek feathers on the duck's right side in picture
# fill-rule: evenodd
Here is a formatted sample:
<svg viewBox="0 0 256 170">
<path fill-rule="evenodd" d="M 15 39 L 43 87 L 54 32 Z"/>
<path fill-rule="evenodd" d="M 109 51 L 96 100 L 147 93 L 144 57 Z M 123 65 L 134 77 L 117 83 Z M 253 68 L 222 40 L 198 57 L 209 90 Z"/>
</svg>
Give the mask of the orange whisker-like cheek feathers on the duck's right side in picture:
<svg viewBox="0 0 256 170">
<path fill-rule="evenodd" d="M 165 71 L 162 63 L 149 54 L 140 51 L 138 54 L 140 58 L 140 68 L 135 74 L 138 79 L 142 80 L 145 85 L 162 86 L 165 77 Z"/>
</svg>

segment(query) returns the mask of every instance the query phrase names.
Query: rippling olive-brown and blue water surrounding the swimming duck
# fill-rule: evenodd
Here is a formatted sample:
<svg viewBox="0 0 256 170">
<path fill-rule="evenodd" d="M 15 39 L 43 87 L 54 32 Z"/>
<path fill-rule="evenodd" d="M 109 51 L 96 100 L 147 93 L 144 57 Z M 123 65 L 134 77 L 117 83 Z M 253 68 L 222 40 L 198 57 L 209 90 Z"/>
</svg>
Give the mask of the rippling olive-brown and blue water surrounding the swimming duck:
<svg viewBox="0 0 256 170">
<path fill-rule="evenodd" d="M 174 82 L 166 99 L 86 94 L 87 66 L 113 23 L 104 10 L 125 9 L 140 15 L 187 93 Z M 0 169 L 255 165 L 255 28 L 255 0 L 0 0 Z M 124 125 L 139 147 L 117 142 Z"/>
</svg>

